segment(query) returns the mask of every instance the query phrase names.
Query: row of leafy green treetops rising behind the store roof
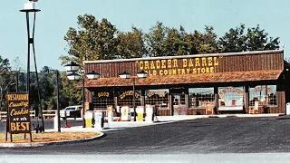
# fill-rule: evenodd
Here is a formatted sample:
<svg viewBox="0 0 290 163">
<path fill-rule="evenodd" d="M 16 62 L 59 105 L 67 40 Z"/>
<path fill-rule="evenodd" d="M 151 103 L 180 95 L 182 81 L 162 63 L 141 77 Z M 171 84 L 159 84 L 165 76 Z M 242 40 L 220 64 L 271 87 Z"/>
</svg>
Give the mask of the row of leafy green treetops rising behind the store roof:
<svg viewBox="0 0 290 163">
<path fill-rule="evenodd" d="M 132 26 L 130 32 L 120 32 L 107 19 L 102 22 L 91 14 L 77 17 L 78 28 L 69 28 L 64 40 L 69 56 L 61 56 L 63 63 L 83 60 L 125 59 L 144 56 L 189 55 L 196 53 L 233 53 L 274 50 L 279 37 L 268 37 L 259 25 L 252 28 L 241 24 L 218 38 L 212 26 L 205 32 L 188 33 L 157 22 L 149 33 Z"/>
</svg>

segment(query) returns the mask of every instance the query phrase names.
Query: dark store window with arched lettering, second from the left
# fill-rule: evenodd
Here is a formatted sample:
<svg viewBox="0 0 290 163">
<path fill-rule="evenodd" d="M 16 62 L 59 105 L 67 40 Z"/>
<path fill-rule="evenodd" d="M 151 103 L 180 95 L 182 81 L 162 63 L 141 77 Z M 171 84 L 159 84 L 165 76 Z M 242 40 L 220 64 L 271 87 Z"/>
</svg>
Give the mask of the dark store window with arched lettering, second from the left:
<svg viewBox="0 0 290 163">
<path fill-rule="evenodd" d="M 133 91 L 119 91 L 118 105 L 133 107 Z M 141 105 L 141 91 L 135 91 L 135 106 Z"/>
</svg>

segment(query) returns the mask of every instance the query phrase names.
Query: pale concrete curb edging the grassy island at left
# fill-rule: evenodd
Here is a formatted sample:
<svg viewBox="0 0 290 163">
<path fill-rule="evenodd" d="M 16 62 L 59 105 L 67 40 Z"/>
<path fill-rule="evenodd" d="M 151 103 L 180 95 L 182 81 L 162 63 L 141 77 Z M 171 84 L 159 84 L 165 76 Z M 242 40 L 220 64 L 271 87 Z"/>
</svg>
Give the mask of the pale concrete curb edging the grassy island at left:
<svg viewBox="0 0 290 163">
<path fill-rule="evenodd" d="M 31 143 L 0 143 L 0 149 L 34 148 L 34 147 L 43 147 L 43 146 L 48 146 L 48 145 L 71 144 L 71 143 L 91 141 L 93 139 L 101 139 L 102 137 L 106 136 L 102 132 L 99 132 L 99 133 L 100 135 L 96 137 L 88 138 L 88 139 L 73 139 L 73 140 L 64 140 L 64 141 L 31 142 Z"/>
</svg>

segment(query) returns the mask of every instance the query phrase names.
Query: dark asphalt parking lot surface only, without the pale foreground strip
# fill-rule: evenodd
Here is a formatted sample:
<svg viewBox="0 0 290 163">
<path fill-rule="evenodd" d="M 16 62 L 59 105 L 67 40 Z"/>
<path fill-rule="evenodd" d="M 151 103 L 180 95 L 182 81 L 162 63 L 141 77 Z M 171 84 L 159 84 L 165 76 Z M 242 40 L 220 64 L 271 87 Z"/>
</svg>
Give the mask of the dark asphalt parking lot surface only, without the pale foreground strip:
<svg viewBox="0 0 290 163">
<path fill-rule="evenodd" d="M 82 121 L 79 121 L 82 125 Z M 106 137 L 28 153 L 276 153 L 290 151 L 290 117 L 206 118 L 104 130 Z M 16 153 L 21 151 L 14 151 Z"/>
</svg>

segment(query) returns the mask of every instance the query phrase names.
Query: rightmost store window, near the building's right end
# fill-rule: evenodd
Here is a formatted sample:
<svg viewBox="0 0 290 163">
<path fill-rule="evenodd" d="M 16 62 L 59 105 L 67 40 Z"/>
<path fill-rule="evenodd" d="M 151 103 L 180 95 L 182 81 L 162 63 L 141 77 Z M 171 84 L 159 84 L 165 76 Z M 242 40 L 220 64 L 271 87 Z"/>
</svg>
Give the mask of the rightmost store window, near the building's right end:
<svg viewBox="0 0 290 163">
<path fill-rule="evenodd" d="M 255 106 L 258 101 L 259 106 L 277 105 L 276 86 L 275 85 L 257 85 L 249 88 L 249 106 Z"/>
</svg>

